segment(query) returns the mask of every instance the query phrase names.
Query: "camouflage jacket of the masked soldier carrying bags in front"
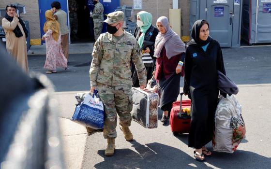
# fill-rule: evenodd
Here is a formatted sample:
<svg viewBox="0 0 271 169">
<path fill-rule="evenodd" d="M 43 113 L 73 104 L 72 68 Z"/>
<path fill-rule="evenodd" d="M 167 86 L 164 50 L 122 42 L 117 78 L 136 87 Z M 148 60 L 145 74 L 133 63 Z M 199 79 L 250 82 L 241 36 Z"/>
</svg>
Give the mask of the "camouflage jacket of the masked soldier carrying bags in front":
<svg viewBox="0 0 271 169">
<path fill-rule="evenodd" d="M 139 84 L 146 84 L 146 68 L 132 34 L 124 31 L 124 36 L 118 42 L 108 32 L 101 34 L 94 44 L 92 56 L 91 86 L 96 86 L 97 82 L 111 86 L 132 85 L 131 59 L 135 63 Z"/>
</svg>

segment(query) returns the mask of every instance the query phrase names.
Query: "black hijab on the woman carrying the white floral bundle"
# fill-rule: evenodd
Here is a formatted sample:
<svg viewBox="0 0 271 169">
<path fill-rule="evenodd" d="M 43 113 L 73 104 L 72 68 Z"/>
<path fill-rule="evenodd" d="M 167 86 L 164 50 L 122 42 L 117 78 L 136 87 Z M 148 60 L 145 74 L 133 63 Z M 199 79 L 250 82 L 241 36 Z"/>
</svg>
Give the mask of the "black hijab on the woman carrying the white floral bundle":
<svg viewBox="0 0 271 169">
<path fill-rule="evenodd" d="M 212 41 L 212 38 L 211 36 L 208 37 L 208 39 L 206 41 L 202 41 L 200 38 L 199 38 L 199 31 L 200 31 L 200 28 L 204 25 L 204 24 L 207 24 L 208 25 L 208 28 L 209 28 L 209 23 L 206 21 L 206 20 L 197 20 L 192 29 L 191 29 L 191 36 L 192 36 L 192 40 L 188 42 L 188 45 L 194 45 L 194 46 L 198 46 L 198 47 L 201 47 L 201 46 L 205 46 L 207 45 L 207 43 L 210 43 Z"/>
</svg>

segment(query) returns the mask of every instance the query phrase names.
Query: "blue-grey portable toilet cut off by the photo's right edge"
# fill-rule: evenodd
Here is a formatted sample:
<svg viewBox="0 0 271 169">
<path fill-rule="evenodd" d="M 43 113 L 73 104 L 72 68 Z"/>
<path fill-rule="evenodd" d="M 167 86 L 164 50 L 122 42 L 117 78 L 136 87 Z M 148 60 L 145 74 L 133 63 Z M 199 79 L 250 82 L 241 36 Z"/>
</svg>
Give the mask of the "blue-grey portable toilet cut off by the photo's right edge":
<svg viewBox="0 0 271 169">
<path fill-rule="evenodd" d="M 244 0 L 242 39 L 249 44 L 271 42 L 271 0 Z"/>
</svg>

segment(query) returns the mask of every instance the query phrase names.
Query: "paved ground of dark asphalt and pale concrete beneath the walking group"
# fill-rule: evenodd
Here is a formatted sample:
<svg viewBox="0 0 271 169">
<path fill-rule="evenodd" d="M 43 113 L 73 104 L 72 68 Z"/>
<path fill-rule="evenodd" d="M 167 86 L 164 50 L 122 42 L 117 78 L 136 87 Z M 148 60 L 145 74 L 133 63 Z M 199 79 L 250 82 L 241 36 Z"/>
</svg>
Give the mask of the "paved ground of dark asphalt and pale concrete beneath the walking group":
<svg viewBox="0 0 271 169">
<path fill-rule="evenodd" d="M 214 152 L 213 157 L 204 163 L 193 158 L 193 149 L 187 147 L 188 135 L 175 137 L 170 126 L 162 126 L 160 122 L 156 129 L 145 129 L 133 121 L 131 130 L 135 141 L 132 142 L 124 140 L 118 125 L 116 154 L 106 157 L 106 140 L 102 133 L 87 136 L 83 126 L 69 120 L 75 109 L 75 94 L 90 88 L 91 56 L 87 51 L 92 51 L 92 45 L 85 46 L 86 51 L 70 55 L 68 70 L 47 75 L 55 84 L 59 99 L 60 130 L 67 169 L 271 168 L 270 46 L 223 49 L 227 76 L 239 86 L 237 99 L 242 105 L 247 132 L 234 154 Z M 44 62 L 44 55 L 29 55 L 30 70 L 45 72 Z"/>
</svg>

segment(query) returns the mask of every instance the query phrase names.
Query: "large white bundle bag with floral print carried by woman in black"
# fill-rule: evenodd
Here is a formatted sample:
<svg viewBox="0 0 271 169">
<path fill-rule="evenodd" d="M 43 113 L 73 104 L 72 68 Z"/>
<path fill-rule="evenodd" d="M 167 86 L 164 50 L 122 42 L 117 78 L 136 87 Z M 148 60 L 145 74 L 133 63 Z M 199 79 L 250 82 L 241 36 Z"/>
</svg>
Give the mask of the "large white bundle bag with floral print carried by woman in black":
<svg viewBox="0 0 271 169">
<path fill-rule="evenodd" d="M 234 95 L 221 97 L 215 111 L 213 150 L 233 153 L 245 137 L 241 105 Z"/>
</svg>

